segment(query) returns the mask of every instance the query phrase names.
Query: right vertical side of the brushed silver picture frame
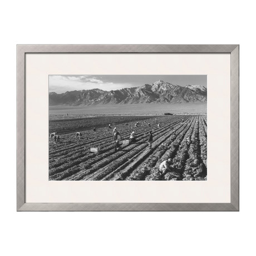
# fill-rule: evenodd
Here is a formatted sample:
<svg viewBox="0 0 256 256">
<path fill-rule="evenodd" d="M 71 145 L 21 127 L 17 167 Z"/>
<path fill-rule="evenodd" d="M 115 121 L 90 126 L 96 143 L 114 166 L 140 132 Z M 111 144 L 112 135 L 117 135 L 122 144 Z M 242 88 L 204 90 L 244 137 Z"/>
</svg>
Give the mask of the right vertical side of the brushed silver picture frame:
<svg viewBox="0 0 256 256">
<path fill-rule="evenodd" d="M 231 52 L 231 203 L 239 211 L 239 45 Z"/>
</svg>

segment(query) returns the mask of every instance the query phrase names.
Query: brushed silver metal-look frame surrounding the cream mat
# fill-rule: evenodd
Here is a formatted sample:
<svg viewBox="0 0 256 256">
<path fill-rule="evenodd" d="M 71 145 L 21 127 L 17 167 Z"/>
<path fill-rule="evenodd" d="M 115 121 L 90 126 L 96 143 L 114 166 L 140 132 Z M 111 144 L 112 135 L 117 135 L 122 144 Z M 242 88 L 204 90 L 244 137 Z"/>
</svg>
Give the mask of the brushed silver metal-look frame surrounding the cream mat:
<svg viewBox="0 0 256 256">
<path fill-rule="evenodd" d="M 26 203 L 26 53 L 230 53 L 230 203 Z M 239 45 L 17 45 L 17 211 L 239 211 Z"/>
</svg>

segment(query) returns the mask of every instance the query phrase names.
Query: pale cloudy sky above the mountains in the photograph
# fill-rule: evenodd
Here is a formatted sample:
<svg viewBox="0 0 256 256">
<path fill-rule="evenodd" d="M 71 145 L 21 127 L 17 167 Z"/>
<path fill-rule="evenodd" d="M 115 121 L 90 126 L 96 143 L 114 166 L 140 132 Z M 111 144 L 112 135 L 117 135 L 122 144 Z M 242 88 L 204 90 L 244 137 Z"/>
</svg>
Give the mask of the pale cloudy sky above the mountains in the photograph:
<svg viewBox="0 0 256 256">
<path fill-rule="evenodd" d="M 50 75 L 49 92 L 63 93 L 99 88 L 104 91 L 137 87 L 163 80 L 173 85 L 203 85 L 206 75 Z"/>
</svg>

